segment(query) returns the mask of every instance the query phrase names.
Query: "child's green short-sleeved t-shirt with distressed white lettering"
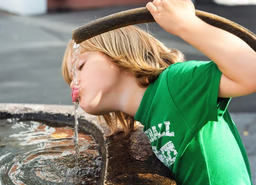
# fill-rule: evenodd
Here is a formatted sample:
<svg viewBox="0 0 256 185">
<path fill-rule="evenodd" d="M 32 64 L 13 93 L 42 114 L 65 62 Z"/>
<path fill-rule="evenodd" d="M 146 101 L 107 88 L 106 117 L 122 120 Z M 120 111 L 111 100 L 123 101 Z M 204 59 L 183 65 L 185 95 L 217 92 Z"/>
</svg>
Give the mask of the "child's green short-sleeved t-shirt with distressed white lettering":
<svg viewBox="0 0 256 185">
<path fill-rule="evenodd" d="M 244 145 L 218 97 L 215 63 L 175 63 L 151 83 L 134 117 L 177 185 L 252 185 Z"/>
</svg>

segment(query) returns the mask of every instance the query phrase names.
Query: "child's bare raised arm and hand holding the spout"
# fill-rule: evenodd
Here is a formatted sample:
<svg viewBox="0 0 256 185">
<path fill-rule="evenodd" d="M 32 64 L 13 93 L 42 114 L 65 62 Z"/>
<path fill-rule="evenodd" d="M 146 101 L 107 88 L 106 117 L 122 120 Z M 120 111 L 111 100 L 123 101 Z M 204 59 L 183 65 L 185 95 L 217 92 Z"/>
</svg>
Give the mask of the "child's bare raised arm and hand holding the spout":
<svg viewBox="0 0 256 185">
<path fill-rule="evenodd" d="M 191 0 L 154 0 L 147 4 L 156 22 L 209 57 L 222 72 L 219 97 L 256 92 L 256 52 L 239 37 L 195 16 Z"/>
</svg>

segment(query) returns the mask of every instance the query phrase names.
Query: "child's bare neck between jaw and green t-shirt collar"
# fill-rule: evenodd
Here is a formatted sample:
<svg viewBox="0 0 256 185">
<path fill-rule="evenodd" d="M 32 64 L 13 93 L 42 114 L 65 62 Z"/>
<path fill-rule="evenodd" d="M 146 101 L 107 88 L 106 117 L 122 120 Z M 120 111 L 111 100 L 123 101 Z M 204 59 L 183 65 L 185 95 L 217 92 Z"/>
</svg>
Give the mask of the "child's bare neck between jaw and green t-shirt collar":
<svg viewBox="0 0 256 185">
<path fill-rule="evenodd" d="M 147 88 L 140 87 L 132 74 L 125 74 L 121 81 L 117 90 L 119 96 L 116 97 L 117 110 L 134 117 Z"/>
</svg>

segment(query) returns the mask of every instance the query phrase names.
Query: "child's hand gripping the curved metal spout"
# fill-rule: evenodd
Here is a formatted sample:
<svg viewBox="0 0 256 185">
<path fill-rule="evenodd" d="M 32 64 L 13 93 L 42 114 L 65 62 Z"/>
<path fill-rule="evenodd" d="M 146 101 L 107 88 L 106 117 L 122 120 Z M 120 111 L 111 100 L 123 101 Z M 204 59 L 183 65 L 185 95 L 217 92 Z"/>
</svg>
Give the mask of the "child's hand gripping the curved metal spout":
<svg viewBox="0 0 256 185">
<path fill-rule="evenodd" d="M 191 0 L 154 0 L 146 7 L 161 27 L 178 36 L 180 30 L 198 19 Z"/>
</svg>

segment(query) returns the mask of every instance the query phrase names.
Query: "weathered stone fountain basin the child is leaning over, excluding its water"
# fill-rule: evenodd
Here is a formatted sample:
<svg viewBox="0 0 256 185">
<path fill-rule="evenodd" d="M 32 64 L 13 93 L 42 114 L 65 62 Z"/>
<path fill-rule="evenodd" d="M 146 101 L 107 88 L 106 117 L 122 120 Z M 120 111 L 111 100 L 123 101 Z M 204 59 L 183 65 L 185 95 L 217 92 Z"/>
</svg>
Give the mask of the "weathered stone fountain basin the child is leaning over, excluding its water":
<svg viewBox="0 0 256 185">
<path fill-rule="evenodd" d="M 143 125 L 123 139 L 122 133 L 108 137 L 108 127 L 96 116 L 79 108 L 79 129 L 87 131 L 99 144 L 102 156 L 100 185 L 176 185 L 172 172 L 155 156 Z M 0 103 L 0 119 L 45 121 L 74 127 L 73 105 L 12 104 Z"/>
</svg>

